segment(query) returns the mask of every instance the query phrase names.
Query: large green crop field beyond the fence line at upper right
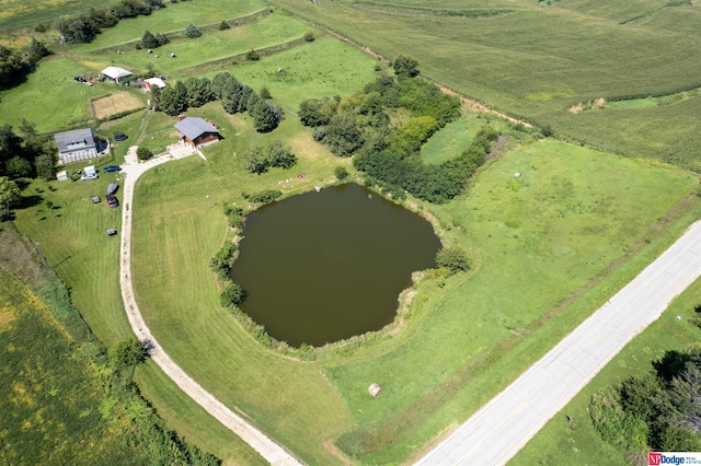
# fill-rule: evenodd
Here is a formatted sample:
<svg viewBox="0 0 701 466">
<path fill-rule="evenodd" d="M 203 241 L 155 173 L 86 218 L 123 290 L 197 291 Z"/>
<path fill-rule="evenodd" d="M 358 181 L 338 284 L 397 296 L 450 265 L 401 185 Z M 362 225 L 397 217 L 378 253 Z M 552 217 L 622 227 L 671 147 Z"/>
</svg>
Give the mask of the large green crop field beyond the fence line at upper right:
<svg viewBox="0 0 701 466">
<path fill-rule="evenodd" d="M 388 59 L 409 53 L 426 77 L 530 123 L 549 125 L 574 141 L 701 170 L 701 133 L 694 126 L 699 96 L 665 109 L 567 112 L 578 102 L 599 97 L 645 97 L 698 88 L 701 53 L 688 46 L 701 21 L 698 5 L 663 8 L 668 2 L 634 1 L 547 7 L 504 0 L 490 2 L 490 9 L 510 13 L 469 18 L 390 11 L 392 7 L 436 10 L 425 0 L 382 2 L 387 11 L 356 7 L 350 0 L 273 3 Z M 482 8 L 479 1 L 440 7 Z M 650 13 L 644 23 L 619 24 L 641 12 Z"/>
</svg>

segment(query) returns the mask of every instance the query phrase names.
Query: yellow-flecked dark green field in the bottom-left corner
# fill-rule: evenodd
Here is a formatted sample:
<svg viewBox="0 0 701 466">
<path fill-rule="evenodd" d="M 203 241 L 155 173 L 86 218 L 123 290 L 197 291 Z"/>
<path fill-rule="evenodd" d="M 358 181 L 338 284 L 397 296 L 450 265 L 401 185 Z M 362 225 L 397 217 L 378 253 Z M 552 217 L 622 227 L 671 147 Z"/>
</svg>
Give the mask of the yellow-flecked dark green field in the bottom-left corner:
<svg viewBox="0 0 701 466">
<path fill-rule="evenodd" d="M 129 463 L 104 422 L 104 386 L 50 311 L 0 268 L 0 432 L 4 464 Z M 39 459 L 41 458 L 41 459 Z"/>
</svg>

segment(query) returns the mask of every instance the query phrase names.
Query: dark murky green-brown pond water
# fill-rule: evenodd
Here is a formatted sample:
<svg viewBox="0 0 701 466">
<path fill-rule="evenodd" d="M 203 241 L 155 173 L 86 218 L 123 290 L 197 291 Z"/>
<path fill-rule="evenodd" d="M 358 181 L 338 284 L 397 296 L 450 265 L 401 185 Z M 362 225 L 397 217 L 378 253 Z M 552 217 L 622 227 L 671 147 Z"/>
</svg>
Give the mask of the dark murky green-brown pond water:
<svg viewBox="0 0 701 466">
<path fill-rule="evenodd" d="M 249 214 L 231 276 L 242 310 L 294 347 L 323 346 L 391 323 L 412 271 L 440 242 L 420 215 L 354 184 Z"/>
</svg>

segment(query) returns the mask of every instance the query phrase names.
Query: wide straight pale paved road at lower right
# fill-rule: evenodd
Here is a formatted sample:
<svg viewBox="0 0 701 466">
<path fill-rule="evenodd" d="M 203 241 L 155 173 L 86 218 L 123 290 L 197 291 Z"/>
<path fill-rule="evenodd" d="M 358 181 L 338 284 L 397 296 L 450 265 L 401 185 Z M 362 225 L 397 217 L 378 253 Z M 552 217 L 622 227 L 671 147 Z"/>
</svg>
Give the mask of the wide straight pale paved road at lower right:
<svg viewBox="0 0 701 466">
<path fill-rule="evenodd" d="M 417 465 L 502 465 L 701 276 L 701 222 Z"/>
</svg>

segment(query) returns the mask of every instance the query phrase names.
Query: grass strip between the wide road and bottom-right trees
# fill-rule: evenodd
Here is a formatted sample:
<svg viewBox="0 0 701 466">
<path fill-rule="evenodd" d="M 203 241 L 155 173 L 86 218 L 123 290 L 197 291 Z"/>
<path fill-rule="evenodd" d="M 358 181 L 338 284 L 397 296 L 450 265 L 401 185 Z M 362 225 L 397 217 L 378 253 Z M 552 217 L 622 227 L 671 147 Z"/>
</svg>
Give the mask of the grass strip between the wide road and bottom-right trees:
<svg viewBox="0 0 701 466">
<path fill-rule="evenodd" d="M 652 362 L 659 360 L 665 351 L 681 351 L 691 345 L 698 345 L 701 333 L 689 319 L 694 316 L 693 308 L 699 302 L 701 282 L 697 280 L 671 303 L 659 321 L 629 343 L 585 389 L 552 418 L 509 465 L 630 464 L 629 458 L 622 457 L 620 452 L 604 442 L 594 429 L 588 413 L 591 395 L 630 376 L 641 376 L 652 371 Z M 681 316 L 681 321 L 677 321 L 677 315 Z M 566 416 L 574 419 L 570 426 Z"/>
</svg>

